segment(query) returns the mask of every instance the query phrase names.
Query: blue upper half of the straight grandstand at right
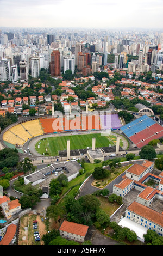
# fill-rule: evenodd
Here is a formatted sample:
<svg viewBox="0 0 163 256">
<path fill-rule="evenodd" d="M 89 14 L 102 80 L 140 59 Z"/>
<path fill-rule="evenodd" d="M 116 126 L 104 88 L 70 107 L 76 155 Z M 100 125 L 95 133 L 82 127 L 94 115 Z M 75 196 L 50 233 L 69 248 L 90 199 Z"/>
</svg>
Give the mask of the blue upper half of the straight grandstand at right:
<svg viewBox="0 0 163 256">
<path fill-rule="evenodd" d="M 121 127 L 121 131 L 123 131 L 127 137 L 130 137 L 133 136 L 135 132 L 140 132 L 153 124 L 155 124 L 155 121 L 152 118 L 147 115 L 143 115 L 142 117 Z"/>
</svg>

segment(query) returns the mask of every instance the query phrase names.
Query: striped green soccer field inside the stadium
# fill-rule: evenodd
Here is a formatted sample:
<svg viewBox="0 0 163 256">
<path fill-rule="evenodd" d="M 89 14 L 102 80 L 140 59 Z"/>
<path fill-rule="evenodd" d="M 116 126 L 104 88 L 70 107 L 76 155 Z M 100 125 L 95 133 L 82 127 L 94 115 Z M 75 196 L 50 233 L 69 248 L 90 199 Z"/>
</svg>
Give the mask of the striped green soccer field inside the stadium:
<svg viewBox="0 0 163 256">
<path fill-rule="evenodd" d="M 109 147 L 116 144 L 116 136 L 101 136 L 101 133 L 71 136 L 55 136 L 41 139 L 36 143 L 35 149 L 38 153 L 47 156 L 58 156 L 58 151 L 67 150 L 67 140 L 70 139 L 70 149 L 92 148 L 92 138 L 96 138 L 96 148 Z M 120 139 L 120 146 L 123 143 Z"/>
</svg>

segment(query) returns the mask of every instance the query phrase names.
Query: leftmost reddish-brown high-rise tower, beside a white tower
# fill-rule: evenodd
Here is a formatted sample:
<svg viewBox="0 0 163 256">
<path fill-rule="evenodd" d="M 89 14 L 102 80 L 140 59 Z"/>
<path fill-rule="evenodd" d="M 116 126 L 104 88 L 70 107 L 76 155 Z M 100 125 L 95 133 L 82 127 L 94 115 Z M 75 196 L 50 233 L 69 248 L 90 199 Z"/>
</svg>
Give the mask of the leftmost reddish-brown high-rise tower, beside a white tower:
<svg viewBox="0 0 163 256">
<path fill-rule="evenodd" d="M 51 76 L 60 76 L 60 52 L 54 50 L 51 53 L 50 71 Z"/>
</svg>

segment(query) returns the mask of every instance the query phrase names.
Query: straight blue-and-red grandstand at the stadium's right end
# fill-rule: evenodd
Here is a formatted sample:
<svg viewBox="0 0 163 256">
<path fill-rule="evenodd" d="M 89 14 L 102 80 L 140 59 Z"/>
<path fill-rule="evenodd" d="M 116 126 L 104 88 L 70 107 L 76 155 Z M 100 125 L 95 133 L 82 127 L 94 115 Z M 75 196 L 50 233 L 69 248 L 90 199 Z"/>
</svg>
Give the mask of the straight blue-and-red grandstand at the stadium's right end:
<svg viewBox="0 0 163 256">
<path fill-rule="evenodd" d="M 121 131 L 137 148 L 142 148 L 153 139 L 159 139 L 163 136 L 163 127 L 147 115 L 124 125 L 121 127 Z"/>
</svg>

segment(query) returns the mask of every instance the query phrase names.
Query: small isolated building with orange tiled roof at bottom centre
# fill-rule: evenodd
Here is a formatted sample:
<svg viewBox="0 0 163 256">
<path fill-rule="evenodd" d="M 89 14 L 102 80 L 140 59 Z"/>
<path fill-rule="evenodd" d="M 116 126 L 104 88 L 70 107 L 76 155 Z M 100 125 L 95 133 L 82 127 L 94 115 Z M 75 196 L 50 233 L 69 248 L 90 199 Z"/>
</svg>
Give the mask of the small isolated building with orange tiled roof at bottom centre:
<svg viewBox="0 0 163 256">
<path fill-rule="evenodd" d="M 60 236 L 77 242 L 84 242 L 89 226 L 64 221 L 59 228 Z"/>
</svg>

